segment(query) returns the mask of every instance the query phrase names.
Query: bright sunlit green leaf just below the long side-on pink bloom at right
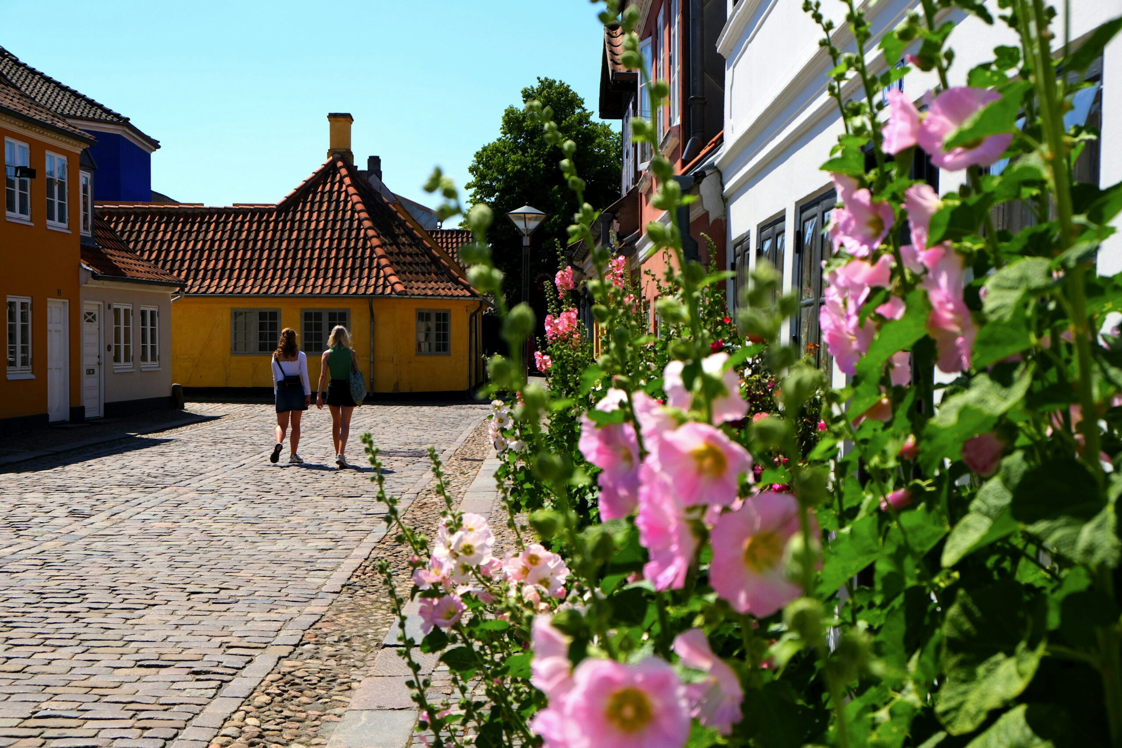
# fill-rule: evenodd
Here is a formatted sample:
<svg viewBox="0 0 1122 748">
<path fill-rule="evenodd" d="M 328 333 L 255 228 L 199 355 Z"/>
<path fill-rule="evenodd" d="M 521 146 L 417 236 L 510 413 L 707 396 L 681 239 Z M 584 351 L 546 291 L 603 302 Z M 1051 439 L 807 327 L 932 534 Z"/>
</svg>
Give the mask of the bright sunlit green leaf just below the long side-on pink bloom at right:
<svg viewBox="0 0 1122 748">
<path fill-rule="evenodd" d="M 1032 366 L 1020 367 L 1008 387 L 978 373 L 969 389 L 945 398 L 923 428 L 919 458 L 923 469 L 934 472 L 941 460 L 957 460 L 963 442 L 993 428 L 999 416 L 1024 399 L 1032 371 Z"/>
</svg>

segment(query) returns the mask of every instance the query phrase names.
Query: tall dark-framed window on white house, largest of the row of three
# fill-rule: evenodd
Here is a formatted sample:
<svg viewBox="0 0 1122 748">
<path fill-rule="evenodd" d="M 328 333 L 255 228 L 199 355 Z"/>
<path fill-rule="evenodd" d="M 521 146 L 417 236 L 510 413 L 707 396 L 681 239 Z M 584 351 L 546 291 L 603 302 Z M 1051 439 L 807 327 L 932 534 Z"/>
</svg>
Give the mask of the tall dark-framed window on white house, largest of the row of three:
<svg viewBox="0 0 1122 748">
<path fill-rule="evenodd" d="M 825 301 L 822 296 L 822 261 L 830 257 L 830 241 L 826 227 L 830 212 L 837 203 L 837 194 L 831 190 L 820 197 L 799 207 L 799 232 L 795 237 L 794 283 L 799 290 L 799 316 L 791 325 L 791 340 L 827 376 L 834 366 L 833 359 L 822 347 L 822 332 L 818 325 L 818 314 Z"/>
</svg>

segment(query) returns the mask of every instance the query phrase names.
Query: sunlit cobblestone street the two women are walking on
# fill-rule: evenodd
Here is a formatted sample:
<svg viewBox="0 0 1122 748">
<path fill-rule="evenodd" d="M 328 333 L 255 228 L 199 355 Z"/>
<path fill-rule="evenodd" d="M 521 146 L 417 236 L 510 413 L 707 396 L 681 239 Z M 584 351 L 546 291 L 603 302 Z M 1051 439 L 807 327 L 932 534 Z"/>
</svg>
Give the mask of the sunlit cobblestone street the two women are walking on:
<svg viewBox="0 0 1122 748">
<path fill-rule="evenodd" d="M 327 410 L 303 467 L 266 460 L 272 406 L 191 410 L 221 418 L 0 472 L 0 748 L 205 748 L 385 532 Z M 407 495 L 485 413 L 366 406 L 351 433 Z"/>
</svg>

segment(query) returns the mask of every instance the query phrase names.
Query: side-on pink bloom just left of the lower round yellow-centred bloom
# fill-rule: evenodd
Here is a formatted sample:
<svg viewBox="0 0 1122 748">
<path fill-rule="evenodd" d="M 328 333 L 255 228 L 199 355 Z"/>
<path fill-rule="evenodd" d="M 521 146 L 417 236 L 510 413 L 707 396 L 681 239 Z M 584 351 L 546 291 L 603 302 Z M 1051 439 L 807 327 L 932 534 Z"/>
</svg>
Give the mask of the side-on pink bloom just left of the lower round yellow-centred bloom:
<svg viewBox="0 0 1122 748">
<path fill-rule="evenodd" d="M 670 479 L 644 464 L 640 469 L 638 542 L 650 554 L 643 578 L 656 590 L 680 590 L 693 561 L 698 538 L 693 535 L 683 507 L 674 496 Z"/>
</svg>

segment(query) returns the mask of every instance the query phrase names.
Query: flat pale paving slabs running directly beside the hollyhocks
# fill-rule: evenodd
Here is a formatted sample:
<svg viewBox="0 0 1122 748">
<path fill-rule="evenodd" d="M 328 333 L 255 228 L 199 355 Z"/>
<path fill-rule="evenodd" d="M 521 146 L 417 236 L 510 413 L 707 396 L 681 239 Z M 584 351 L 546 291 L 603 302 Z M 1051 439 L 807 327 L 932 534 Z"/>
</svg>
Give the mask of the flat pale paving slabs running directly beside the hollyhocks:
<svg viewBox="0 0 1122 748">
<path fill-rule="evenodd" d="M 495 471 L 500 464 L 491 452 L 465 491 L 459 505 L 461 511 L 490 516 L 497 498 Z M 419 643 L 422 635 L 421 617 L 415 615 L 416 603 L 406 606 L 405 611 L 410 613 L 405 620 L 405 634 Z M 396 652 L 402 646 L 397 640 L 401 631 L 398 622 L 386 634 L 383 648 L 375 658 L 374 674 L 364 678 L 355 691 L 325 748 L 407 748 L 412 744 L 417 708 L 405 685 L 413 676 Z M 432 673 L 438 665 L 435 657 L 421 655 L 420 652 L 416 655 L 422 664 L 421 674 Z"/>
</svg>

